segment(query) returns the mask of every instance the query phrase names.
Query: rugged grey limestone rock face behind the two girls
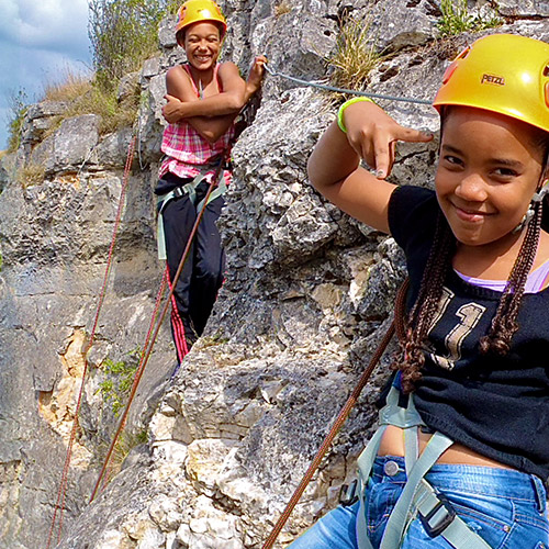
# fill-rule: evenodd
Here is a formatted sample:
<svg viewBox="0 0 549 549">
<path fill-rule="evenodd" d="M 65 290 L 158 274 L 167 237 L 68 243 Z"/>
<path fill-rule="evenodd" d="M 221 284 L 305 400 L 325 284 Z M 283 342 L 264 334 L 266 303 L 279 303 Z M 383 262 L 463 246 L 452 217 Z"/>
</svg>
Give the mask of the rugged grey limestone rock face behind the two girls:
<svg viewBox="0 0 549 549">
<path fill-rule="evenodd" d="M 435 41 L 437 4 L 231 1 L 225 55 L 246 71 L 253 54 L 266 53 L 281 72 L 320 79 L 338 21 L 368 16 L 379 44 L 393 52 L 373 70 L 371 91 L 430 99 L 447 59 L 477 37 Z M 508 22 L 502 31 L 549 38 L 547 2 L 498 4 Z M 88 355 L 64 549 L 261 547 L 386 328 L 404 276 L 391 238 L 341 214 L 307 183 L 307 156 L 334 117 L 327 97 L 267 77 L 255 122 L 233 152 L 235 180 L 220 221 L 227 279 L 206 333 L 169 383 L 175 354 L 169 327 L 160 330 L 126 427 L 133 449 L 87 504 L 117 422 L 101 389 L 108 365 L 134 365 L 161 278 L 152 188 L 164 72 L 181 59 L 170 24 L 160 32 L 163 55 L 139 75 L 138 155 Z M 437 128 L 428 107 L 380 104 L 403 124 Z M 30 110 L 22 147 L 0 170 L 0 547 L 7 549 L 42 547 L 49 530 L 132 139 L 131 130 L 100 136 L 94 115 L 69 119 L 43 138 L 59 109 Z M 401 147 L 392 179 L 429 184 L 436 148 Z M 44 165 L 41 182 L 21 184 L 15 172 L 23 161 Z M 389 362 L 382 360 L 278 547 L 334 506 L 352 478 Z M 147 442 L 137 444 L 142 432 Z"/>
</svg>

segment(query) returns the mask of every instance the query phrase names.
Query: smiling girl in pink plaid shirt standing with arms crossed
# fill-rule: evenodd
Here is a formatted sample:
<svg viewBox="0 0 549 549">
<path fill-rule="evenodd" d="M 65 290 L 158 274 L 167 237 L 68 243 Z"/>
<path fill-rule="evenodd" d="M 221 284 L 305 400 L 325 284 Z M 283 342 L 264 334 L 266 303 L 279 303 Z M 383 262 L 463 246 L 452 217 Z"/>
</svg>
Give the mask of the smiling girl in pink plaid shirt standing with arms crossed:
<svg viewBox="0 0 549 549">
<path fill-rule="evenodd" d="M 227 167 L 235 119 L 261 86 L 265 57 L 256 58 L 247 82 L 234 63 L 217 64 L 227 25 L 212 0 L 189 0 L 176 25 L 188 63 L 168 70 L 169 125 L 164 132 L 165 159 L 155 193 L 159 195 L 159 257 L 167 259 L 170 281 L 200 212 L 216 166 L 224 168 L 199 224 L 173 293 L 171 329 L 178 363 L 202 334 L 223 281 L 225 256 L 215 222 L 231 182 Z"/>
</svg>

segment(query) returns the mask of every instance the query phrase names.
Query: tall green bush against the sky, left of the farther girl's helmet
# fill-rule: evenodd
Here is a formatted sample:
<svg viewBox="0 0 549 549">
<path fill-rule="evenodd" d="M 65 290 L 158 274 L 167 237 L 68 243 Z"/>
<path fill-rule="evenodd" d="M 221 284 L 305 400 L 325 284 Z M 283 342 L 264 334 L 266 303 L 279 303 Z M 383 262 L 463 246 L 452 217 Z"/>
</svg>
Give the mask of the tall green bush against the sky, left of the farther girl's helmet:
<svg viewBox="0 0 549 549">
<path fill-rule="evenodd" d="M 166 0 L 90 0 L 88 34 L 98 86 L 115 88 L 158 47 Z"/>
</svg>

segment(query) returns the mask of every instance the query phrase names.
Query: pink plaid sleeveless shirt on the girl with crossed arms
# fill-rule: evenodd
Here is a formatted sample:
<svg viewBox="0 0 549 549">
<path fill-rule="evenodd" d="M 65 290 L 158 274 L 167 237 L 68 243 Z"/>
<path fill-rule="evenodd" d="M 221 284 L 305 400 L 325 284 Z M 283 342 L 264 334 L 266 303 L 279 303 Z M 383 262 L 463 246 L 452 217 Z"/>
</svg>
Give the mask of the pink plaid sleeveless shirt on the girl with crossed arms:
<svg viewBox="0 0 549 549">
<path fill-rule="evenodd" d="M 183 68 L 191 76 L 189 67 L 183 65 Z M 219 65 L 215 66 L 215 78 L 217 78 L 217 69 Z M 199 90 L 194 85 L 192 76 L 191 81 L 197 97 L 200 98 Z M 168 124 L 164 131 L 161 145 L 161 150 L 166 155 L 166 158 L 160 165 L 158 177 L 161 178 L 169 171 L 180 178 L 194 178 L 200 173 L 201 168 L 212 164 L 212 161 L 215 163 L 215 157 L 227 149 L 234 134 L 235 126 L 233 124 L 215 143 L 210 143 L 184 121 Z M 206 181 L 211 181 L 214 171 L 215 168 L 212 168 L 211 171 L 205 173 Z M 223 176 L 225 183 L 228 184 L 232 179 L 231 172 L 224 170 Z"/>
</svg>

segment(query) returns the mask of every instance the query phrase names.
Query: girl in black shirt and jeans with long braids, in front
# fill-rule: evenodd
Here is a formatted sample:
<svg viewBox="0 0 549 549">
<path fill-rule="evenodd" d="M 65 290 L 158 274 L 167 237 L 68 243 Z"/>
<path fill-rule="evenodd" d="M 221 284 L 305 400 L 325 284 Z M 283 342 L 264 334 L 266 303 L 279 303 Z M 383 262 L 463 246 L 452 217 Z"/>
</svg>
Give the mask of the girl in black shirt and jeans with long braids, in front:
<svg viewBox="0 0 549 549">
<path fill-rule="evenodd" d="M 358 489 L 292 549 L 549 547 L 549 45 L 477 41 L 434 105 L 435 191 L 385 181 L 395 142 L 430 136 L 368 101 L 340 108 L 309 163 L 325 197 L 403 247 L 411 285 Z"/>
</svg>

